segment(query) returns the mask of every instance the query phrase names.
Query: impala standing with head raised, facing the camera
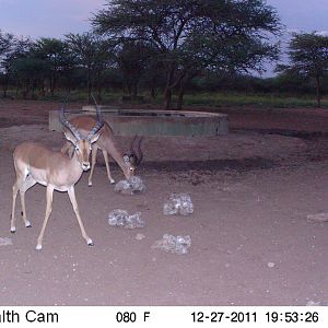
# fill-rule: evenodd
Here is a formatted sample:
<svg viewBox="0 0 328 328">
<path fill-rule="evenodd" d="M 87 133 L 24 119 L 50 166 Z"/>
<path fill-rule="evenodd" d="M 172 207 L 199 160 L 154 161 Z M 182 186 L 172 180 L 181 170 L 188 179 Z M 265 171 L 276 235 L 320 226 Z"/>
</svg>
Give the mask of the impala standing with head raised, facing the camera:
<svg viewBox="0 0 328 328">
<path fill-rule="evenodd" d="M 74 147 L 72 157 L 46 149 L 44 145 L 36 142 L 24 142 L 16 147 L 13 160 L 16 172 L 16 181 L 13 185 L 12 197 L 12 214 L 11 229 L 15 232 L 15 200 L 20 190 L 22 215 L 25 226 L 31 226 L 26 219 L 25 209 L 25 191 L 35 184 L 40 184 L 47 187 L 47 208 L 40 234 L 37 239 L 36 249 L 42 249 L 43 236 L 46 225 L 51 213 L 52 194 L 54 190 L 68 191 L 73 210 L 78 218 L 78 222 L 82 232 L 82 236 L 89 246 L 93 246 L 92 239 L 87 236 L 75 199 L 74 185 L 80 179 L 82 172 L 90 168 L 90 151 L 92 143 L 96 142 L 103 131 L 103 122 L 96 121 L 89 132 L 83 138 L 75 127 L 65 118 L 63 109 L 60 113 L 60 120 L 66 127 L 65 136 Z"/>
</svg>

